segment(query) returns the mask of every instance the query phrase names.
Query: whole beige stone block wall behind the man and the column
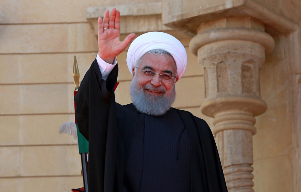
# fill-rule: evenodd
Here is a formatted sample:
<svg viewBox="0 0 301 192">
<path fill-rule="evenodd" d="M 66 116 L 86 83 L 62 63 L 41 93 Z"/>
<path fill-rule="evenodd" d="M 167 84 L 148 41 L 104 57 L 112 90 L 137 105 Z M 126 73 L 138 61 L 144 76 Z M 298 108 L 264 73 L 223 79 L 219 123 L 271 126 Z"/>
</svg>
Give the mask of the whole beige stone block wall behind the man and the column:
<svg viewBox="0 0 301 192">
<path fill-rule="evenodd" d="M 70 191 L 83 185 L 77 144 L 71 136 L 59 134 L 58 127 L 74 119 L 73 56 L 77 56 L 82 79 L 98 51 L 93 22 L 89 21 L 91 18 L 87 16 L 86 8 L 160 2 L 1 2 L 0 190 Z M 186 11 L 194 10 L 196 6 L 192 5 L 195 2 L 189 2 L 174 3 L 174 6 L 182 6 Z M 201 2 L 203 8 L 209 3 Z M 295 23 L 299 22 L 300 26 L 298 10 L 301 6 L 298 1 L 256 2 Z M 200 8 L 200 2 L 196 3 Z M 175 12 L 177 10 L 174 9 Z M 159 13 L 156 12 L 156 15 L 160 19 L 161 10 Z M 131 21 L 132 17 L 124 17 L 121 22 Z M 135 19 L 139 20 L 139 17 Z M 148 26 L 145 29 L 151 26 L 156 29 L 156 23 L 146 24 Z M 131 29 L 129 26 L 124 26 L 125 34 Z M 143 23 L 137 28 L 143 28 Z M 212 118 L 200 111 L 205 101 L 204 72 L 198 65 L 197 56 L 188 48 L 191 36 L 165 26 L 160 29 L 177 34 L 188 54 L 188 67 L 176 84 L 177 99 L 173 106 L 205 119 L 213 128 Z M 298 55 L 300 51 L 296 51 L 301 47 L 300 36 L 300 28 L 294 34 L 273 35 L 275 49 L 266 56 L 265 64 L 261 67 L 260 92 L 261 99 L 267 103 L 267 111 L 256 117 L 257 133 L 253 137 L 253 181 L 256 191 L 301 190 L 301 162 L 298 158 L 301 154 L 301 120 L 298 115 L 301 103 L 301 57 Z M 120 84 L 116 90 L 116 101 L 120 104 L 131 102 L 131 75 L 125 58 L 126 50 L 117 57 Z"/>
</svg>

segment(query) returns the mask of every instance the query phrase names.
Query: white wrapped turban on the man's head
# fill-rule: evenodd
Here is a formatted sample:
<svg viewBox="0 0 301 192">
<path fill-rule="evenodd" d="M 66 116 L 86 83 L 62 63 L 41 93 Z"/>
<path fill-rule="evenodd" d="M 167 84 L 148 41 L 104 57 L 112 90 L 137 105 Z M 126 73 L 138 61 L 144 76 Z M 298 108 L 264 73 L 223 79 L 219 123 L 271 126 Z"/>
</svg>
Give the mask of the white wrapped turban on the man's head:
<svg viewBox="0 0 301 192">
<path fill-rule="evenodd" d="M 140 35 L 129 46 L 126 56 L 129 72 L 133 75 L 133 68 L 137 60 L 152 49 L 163 49 L 172 55 L 177 65 L 177 76 L 180 79 L 187 67 L 186 50 L 174 36 L 158 31 Z"/>
</svg>

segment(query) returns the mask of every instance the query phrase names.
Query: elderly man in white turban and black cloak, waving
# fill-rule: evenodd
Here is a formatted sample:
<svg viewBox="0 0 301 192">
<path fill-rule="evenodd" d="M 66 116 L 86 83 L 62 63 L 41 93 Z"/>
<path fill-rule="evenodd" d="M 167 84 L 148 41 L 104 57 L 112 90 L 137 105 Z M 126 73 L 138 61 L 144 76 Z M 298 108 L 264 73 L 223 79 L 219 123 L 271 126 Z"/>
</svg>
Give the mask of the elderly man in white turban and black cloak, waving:
<svg viewBox="0 0 301 192">
<path fill-rule="evenodd" d="M 99 52 L 75 97 L 77 122 L 89 141 L 89 190 L 227 191 L 207 123 L 171 107 L 187 65 L 176 38 L 149 32 L 132 42 L 126 60 L 133 103 L 115 102 L 115 57 L 135 37 L 119 40 L 119 18 L 116 9 L 98 18 Z"/>
</svg>

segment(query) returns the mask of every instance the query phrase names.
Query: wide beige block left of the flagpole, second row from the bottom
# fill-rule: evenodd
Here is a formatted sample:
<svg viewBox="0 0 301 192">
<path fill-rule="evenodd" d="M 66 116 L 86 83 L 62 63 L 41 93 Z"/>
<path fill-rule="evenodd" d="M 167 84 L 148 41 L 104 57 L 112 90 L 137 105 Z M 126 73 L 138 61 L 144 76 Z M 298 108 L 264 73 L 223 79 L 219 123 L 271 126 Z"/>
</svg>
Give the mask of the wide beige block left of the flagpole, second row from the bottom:
<svg viewBox="0 0 301 192">
<path fill-rule="evenodd" d="M 75 157 L 76 146 L 21 147 L 21 176 L 70 175 L 80 173 L 80 156 Z M 72 159 L 76 158 L 76 159 Z M 77 162 L 77 163 L 76 163 Z M 72 170 L 75 169 L 75 170 Z"/>
</svg>

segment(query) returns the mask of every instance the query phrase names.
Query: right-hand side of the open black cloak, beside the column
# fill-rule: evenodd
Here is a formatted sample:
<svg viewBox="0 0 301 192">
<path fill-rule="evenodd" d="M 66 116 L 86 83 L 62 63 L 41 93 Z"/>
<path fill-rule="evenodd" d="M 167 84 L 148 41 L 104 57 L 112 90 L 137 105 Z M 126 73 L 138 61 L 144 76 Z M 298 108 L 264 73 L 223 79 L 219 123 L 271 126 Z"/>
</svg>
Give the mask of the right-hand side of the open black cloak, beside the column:
<svg viewBox="0 0 301 192">
<path fill-rule="evenodd" d="M 177 109 L 189 132 L 192 155 L 192 191 L 228 191 L 213 134 L 208 124 L 190 112 Z M 197 127 L 194 130 L 193 127 Z M 197 131 L 197 134 L 194 132 Z M 196 135 L 198 138 L 196 138 Z M 199 147 L 198 147 L 199 146 Z M 197 150 L 197 151 L 196 151 Z M 199 158 L 199 165 L 196 159 Z M 200 170 L 195 170 L 200 166 Z M 203 170 L 203 171 L 202 171 Z M 200 173 L 201 172 L 201 173 Z M 197 178 L 198 180 L 195 180 Z"/>
</svg>

